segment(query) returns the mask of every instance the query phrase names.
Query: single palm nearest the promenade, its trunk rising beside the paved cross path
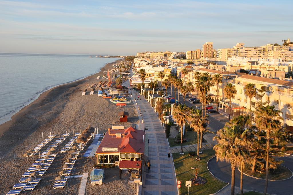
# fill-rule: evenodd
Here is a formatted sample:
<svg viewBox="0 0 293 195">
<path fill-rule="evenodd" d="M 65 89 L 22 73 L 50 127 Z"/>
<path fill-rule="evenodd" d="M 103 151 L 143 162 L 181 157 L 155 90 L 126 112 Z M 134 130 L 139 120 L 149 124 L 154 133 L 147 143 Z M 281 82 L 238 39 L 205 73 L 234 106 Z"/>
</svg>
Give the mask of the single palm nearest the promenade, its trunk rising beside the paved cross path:
<svg viewBox="0 0 293 195">
<path fill-rule="evenodd" d="M 188 118 L 187 112 L 188 107 L 182 104 L 175 106 L 173 110 L 173 117 L 176 120 L 179 127 L 181 128 L 181 153 L 183 153 L 183 126 L 185 125 L 185 121 Z"/>
</svg>

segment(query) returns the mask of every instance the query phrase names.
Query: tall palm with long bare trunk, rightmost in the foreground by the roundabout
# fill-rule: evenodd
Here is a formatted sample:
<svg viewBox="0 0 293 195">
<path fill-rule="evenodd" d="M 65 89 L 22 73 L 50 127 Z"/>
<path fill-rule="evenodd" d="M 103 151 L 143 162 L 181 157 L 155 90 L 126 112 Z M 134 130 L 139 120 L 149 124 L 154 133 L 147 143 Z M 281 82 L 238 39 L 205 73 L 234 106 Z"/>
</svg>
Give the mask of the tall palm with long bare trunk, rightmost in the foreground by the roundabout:
<svg viewBox="0 0 293 195">
<path fill-rule="evenodd" d="M 280 110 L 275 110 L 275 106 L 260 106 L 255 113 L 256 126 L 259 129 L 266 131 L 266 167 L 265 167 L 265 191 L 267 193 L 268 188 L 268 171 L 269 171 L 269 152 L 270 152 L 270 137 L 271 132 L 280 129 L 281 122 L 283 120 L 280 117 Z"/>
</svg>

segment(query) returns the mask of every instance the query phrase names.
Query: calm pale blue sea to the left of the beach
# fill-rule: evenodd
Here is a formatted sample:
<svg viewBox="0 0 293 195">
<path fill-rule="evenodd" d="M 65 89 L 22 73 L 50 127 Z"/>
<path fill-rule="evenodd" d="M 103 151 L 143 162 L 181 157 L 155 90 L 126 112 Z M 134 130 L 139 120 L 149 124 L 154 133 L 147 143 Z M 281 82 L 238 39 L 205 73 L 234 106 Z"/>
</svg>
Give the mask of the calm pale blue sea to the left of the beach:
<svg viewBox="0 0 293 195">
<path fill-rule="evenodd" d="M 57 85 L 82 79 L 119 58 L 0 53 L 0 124 Z"/>
</svg>

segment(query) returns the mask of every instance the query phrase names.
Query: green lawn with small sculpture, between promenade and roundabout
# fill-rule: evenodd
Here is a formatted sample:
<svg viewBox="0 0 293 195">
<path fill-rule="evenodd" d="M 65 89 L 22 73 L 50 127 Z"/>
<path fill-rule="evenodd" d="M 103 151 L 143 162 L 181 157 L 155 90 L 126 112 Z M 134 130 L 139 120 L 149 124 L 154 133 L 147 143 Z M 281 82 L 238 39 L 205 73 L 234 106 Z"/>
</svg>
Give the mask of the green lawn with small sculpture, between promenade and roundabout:
<svg viewBox="0 0 293 195">
<path fill-rule="evenodd" d="M 214 156 L 215 152 L 213 149 L 204 150 L 200 154 L 201 161 L 196 161 L 195 157 L 180 155 L 179 153 L 172 153 L 177 181 L 181 181 L 180 194 L 187 194 L 187 187 L 185 187 L 185 181 L 190 180 L 195 176 L 195 169 L 191 167 L 199 168 L 197 170 L 198 175 L 202 176 L 207 180 L 205 185 L 192 186 L 189 188 L 189 194 L 213 194 L 222 189 L 226 183 L 218 180 L 207 170 L 207 161 Z"/>
</svg>

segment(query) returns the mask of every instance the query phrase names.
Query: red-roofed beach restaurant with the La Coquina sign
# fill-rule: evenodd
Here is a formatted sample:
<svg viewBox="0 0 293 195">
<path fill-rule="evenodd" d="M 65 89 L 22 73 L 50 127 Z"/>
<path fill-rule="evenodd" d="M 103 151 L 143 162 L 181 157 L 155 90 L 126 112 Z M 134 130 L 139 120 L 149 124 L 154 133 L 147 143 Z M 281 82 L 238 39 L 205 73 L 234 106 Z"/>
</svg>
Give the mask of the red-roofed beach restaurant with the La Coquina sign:
<svg viewBox="0 0 293 195">
<path fill-rule="evenodd" d="M 141 170 L 143 157 L 147 155 L 148 138 L 144 131 L 133 127 L 108 128 L 96 151 L 98 164 L 113 164 L 120 168 L 120 173 L 122 169 Z"/>
</svg>

